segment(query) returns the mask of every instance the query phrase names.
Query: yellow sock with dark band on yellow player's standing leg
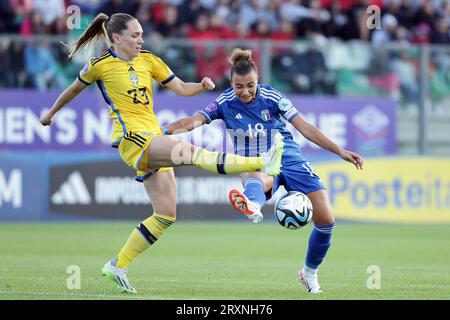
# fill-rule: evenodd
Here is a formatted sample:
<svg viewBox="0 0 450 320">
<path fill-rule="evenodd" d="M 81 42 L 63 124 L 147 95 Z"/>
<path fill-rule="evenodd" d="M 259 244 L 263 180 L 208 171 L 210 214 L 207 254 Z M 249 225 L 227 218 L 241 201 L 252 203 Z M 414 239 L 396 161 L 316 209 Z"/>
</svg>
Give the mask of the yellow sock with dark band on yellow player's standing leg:
<svg viewBox="0 0 450 320">
<path fill-rule="evenodd" d="M 117 256 L 116 267 L 127 268 L 136 256 L 148 249 L 161 237 L 164 231 L 175 222 L 175 218 L 153 213 L 150 218 L 145 219 L 131 232 L 125 245 Z"/>
</svg>

